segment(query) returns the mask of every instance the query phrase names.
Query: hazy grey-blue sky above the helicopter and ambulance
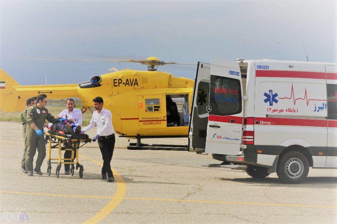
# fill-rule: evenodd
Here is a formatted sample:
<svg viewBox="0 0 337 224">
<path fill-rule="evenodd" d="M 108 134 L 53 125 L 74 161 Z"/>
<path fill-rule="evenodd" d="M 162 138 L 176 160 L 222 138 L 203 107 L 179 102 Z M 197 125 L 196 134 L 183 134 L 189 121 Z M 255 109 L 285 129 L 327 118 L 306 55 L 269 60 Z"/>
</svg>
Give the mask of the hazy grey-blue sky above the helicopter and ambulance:
<svg viewBox="0 0 337 224">
<path fill-rule="evenodd" d="M 336 63 L 337 1 L 0 0 L 0 68 L 20 85 L 78 84 L 110 68 L 147 70 L 52 58 L 150 56 L 191 64 L 211 57 Z M 158 70 L 194 79 L 196 65 Z"/>
</svg>

